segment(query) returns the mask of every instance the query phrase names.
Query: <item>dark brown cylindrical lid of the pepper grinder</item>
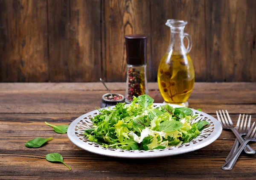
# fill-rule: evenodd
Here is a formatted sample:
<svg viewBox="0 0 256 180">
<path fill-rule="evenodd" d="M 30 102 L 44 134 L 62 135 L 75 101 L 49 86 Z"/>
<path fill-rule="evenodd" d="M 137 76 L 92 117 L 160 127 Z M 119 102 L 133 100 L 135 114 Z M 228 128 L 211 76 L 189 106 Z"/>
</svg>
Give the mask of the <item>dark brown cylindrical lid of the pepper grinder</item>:
<svg viewBox="0 0 256 180">
<path fill-rule="evenodd" d="M 130 34 L 125 36 L 126 62 L 128 65 L 145 65 L 147 55 L 147 36 Z"/>
</svg>

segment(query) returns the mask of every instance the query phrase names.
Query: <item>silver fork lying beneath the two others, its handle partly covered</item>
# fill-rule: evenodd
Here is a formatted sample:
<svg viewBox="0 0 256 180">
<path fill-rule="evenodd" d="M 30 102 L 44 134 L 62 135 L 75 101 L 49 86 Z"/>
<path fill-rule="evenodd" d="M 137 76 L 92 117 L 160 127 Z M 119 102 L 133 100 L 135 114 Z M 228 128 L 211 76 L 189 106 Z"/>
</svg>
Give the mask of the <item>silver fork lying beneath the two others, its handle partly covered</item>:
<svg viewBox="0 0 256 180">
<path fill-rule="evenodd" d="M 230 118 L 228 113 L 227 113 L 227 118 Z M 241 114 L 239 115 L 238 121 L 236 123 L 236 130 L 239 132 L 240 136 L 247 135 L 247 132 L 250 129 L 251 116 L 249 117 L 248 123 L 247 123 L 247 115 L 246 115 L 246 118 L 245 118 L 245 121 L 244 121 L 244 114 L 243 114 L 241 124 L 240 124 L 240 119 L 241 119 Z M 243 124 L 243 122 L 244 122 L 244 124 Z M 247 123 L 247 126 L 246 126 L 246 123 Z M 231 156 L 234 154 L 234 152 L 236 152 L 236 150 L 238 149 L 238 146 L 239 146 L 239 141 L 236 138 L 236 140 L 233 144 L 233 147 L 232 147 L 229 155 L 227 156 L 227 158 L 225 160 L 226 162 L 231 158 Z"/>
</svg>

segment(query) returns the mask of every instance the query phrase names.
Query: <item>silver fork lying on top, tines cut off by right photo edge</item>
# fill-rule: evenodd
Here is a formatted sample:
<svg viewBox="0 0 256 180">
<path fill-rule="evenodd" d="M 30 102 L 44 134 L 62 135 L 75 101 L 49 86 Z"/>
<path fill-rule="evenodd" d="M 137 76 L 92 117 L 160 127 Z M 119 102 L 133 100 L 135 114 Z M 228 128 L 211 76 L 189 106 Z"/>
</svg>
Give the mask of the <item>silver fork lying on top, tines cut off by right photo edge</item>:
<svg viewBox="0 0 256 180">
<path fill-rule="evenodd" d="M 233 154 L 233 156 L 221 167 L 224 170 L 231 170 L 233 169 L 236 160 L 238 159 L 239 155 L 241 154 L 242 150 L 244 149 L 244 147 L 246 146 L 246 144 L 249 141 L 254 141 L 256 142 L 256 127 L 254 127 L 255 122 L 253 122 L 252 127 L 250 128 L 249 132 L 247 133 L 247 135 L 244 138 L 244 142 L 241 143 L 241 145 L 239 146 L 239 148 L 236 150 L 235 154 Z M 253 130 L 254 127 L 254 130 Z M 252 132 L 253 130 L 253 132 Z"/>
</svg>

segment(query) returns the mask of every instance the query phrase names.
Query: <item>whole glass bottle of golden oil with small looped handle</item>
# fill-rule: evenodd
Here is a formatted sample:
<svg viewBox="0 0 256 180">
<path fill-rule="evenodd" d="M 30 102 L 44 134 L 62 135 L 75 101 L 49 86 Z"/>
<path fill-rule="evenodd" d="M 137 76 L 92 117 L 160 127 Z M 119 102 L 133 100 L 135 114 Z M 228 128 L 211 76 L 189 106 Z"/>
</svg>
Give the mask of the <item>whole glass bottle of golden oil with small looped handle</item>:
<svg viewBox="0 0 256 180">
<path fill-rule="evenodd" d="M 187 99 L 194 87 L 195 71 L 189 56 L 192 39 L 183 32 L 186 24 L 182 20 L 167 20 L 166 25 L 171 28 L 171 39 L 158 67 L 157 82 L 166 103 L 188 107 Z M 187 48 L 183 43 L 184 37 L 189 42 Z"/>
</svg>

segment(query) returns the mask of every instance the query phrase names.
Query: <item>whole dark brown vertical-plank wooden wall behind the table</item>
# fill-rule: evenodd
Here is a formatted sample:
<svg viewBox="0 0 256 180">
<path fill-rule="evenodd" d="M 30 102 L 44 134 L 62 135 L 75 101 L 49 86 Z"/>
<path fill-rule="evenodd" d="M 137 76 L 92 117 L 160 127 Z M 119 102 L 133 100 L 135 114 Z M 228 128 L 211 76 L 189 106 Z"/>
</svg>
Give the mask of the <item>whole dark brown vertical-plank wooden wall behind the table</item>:
<svg viewBox="0 0 256 180">
<path fill-rule="evenodd" d="M 198 82 L 256 82 L 256 0 L 0 0 L 0 82 L 125 81 L 125 34 L 148 35 L 148 80 L 187 20 Z"/>
</svg>

